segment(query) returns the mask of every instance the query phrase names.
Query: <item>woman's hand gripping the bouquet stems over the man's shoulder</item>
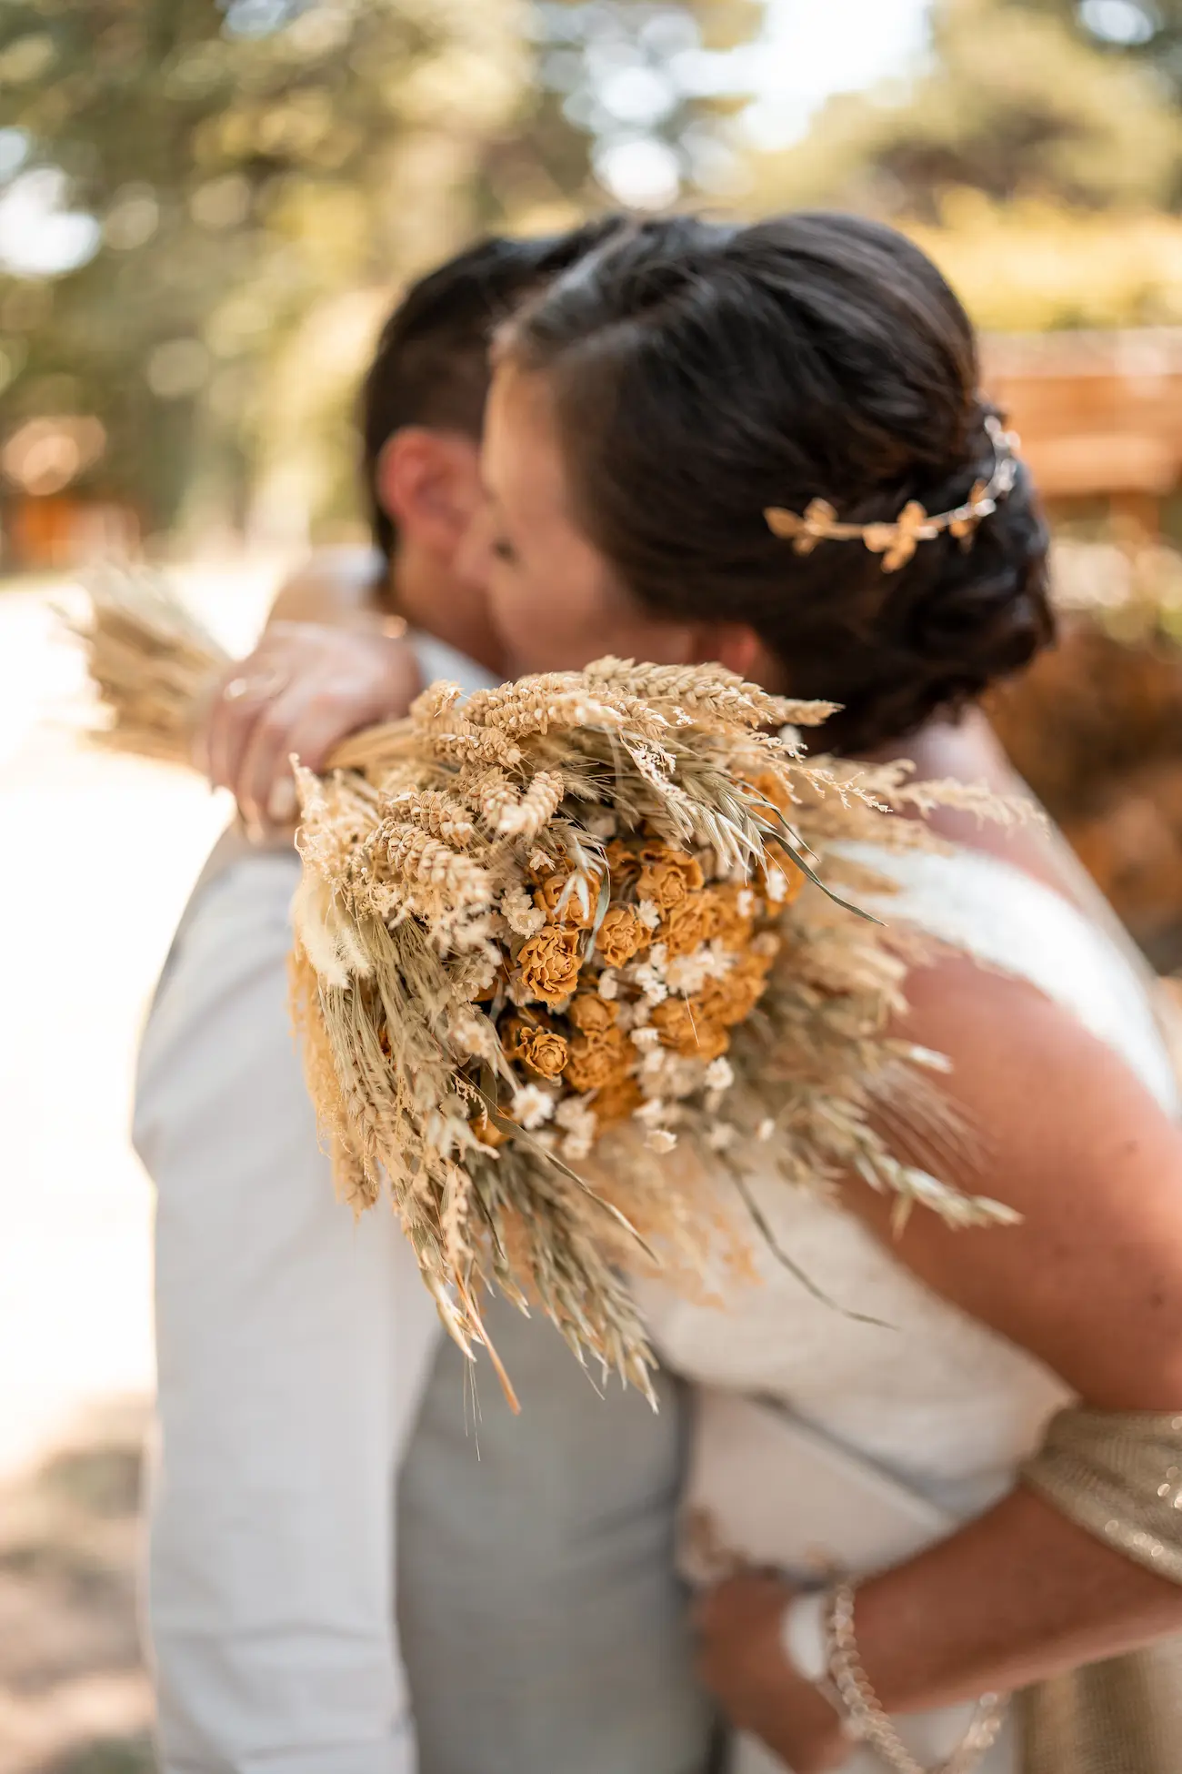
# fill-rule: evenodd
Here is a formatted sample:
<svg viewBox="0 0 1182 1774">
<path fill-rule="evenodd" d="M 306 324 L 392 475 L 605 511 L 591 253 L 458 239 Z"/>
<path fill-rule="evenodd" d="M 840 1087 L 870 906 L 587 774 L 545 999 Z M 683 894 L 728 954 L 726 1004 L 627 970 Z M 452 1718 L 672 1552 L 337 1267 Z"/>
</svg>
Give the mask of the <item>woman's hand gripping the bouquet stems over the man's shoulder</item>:
<svg viewBox="0 0 1182 1774">
<path fill-rule="evenodd" d="M 197 740 L 214 788 L 229 788 L 252 837 L 296 821 L 291 757 L 323 770 L 362 727 L 404 715 L 422 688 L 413 648 L 374 630 L 271 623 L 222 683 Z"/>
</svg>

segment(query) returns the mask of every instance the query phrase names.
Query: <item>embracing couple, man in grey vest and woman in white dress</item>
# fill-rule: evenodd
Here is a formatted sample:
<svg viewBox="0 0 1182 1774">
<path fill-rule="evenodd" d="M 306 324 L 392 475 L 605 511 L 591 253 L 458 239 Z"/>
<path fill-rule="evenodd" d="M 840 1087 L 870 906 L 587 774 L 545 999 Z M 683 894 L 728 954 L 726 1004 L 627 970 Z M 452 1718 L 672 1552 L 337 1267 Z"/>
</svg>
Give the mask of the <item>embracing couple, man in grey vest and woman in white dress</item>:
<svg viewBox="0 0 1182 1774">
<path fill-rule="evenodd" d="M 1177 1765 L 1178 1102 L 1051 836 L 943 814 L 945 852 L 875 860 L 937 938 L 902 1027 L 984 1130 L 950 1180 L 1019 1224 L 895 1235 L 852 1176 L 769 1180 L 815 1291 L 771 1254 L 721 1306 L 638 1284 L 656 1416 L 505 1307 L 525 1410 L 473 1421 L 397 1228 L 331 1201 L 285 1032 L 285 759 L 424 679 L 721 660 L 838 703 L 826 749 L 1010 788 L 973 704 L 1051 639 L 1046 532 L 955 296 L 836 215 L 489 243 L 395 312 L 365 420 L 385 584 L 305 575 L 225 687 L 204 745 L 255 843 L 211 860 L 145 1036 L 165 1769 Z M 689 1600 L 679 1506 L 728 1439 L 787 1570 Z"/>
</svg>

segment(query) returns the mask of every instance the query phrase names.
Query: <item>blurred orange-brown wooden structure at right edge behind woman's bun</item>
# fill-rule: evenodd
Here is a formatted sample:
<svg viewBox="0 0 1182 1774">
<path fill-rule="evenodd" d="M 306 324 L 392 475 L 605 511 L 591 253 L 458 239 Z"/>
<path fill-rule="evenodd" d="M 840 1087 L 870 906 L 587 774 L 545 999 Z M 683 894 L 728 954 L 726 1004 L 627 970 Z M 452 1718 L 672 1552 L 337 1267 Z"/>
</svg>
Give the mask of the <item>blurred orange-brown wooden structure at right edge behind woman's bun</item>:
<svg viewBox="0 0 1182 1774">
<path fill-rule="evenodd" d="M 1182 490 L 1182 328 L 992 335 L 984 381 L 1051 516 L 1099 504 L 1129 541 L 1163 532 Z"/>
</svg>

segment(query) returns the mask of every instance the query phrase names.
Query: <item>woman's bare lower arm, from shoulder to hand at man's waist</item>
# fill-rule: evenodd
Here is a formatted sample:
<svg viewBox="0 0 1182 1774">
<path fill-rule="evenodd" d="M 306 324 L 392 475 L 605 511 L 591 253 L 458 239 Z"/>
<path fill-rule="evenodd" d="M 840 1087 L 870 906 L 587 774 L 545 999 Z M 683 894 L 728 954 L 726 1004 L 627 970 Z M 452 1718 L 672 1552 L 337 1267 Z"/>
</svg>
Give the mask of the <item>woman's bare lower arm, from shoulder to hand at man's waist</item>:
<svg viewBox="0 0 1182 1774">
<path fill-rule="evenodd" d="M 950 1231 L 920 1210 L 891 1240 L 883 1203 L 854 1185 L 851 1205 L 920 1279 L 1044 1361 L 1083 1403 L 1182 1414 L 1182 1135 L 1031 986 L 950 958 L 914 974 L 909 995 L 907 1032 L 952 1056 L 950 1091 L 980 1130 L 982 1164 L 960 1181 L 1015 1206 L 1023 1224 Z M 803 1703 L 778 1657 L 766 1579 L 721 1593 L 705 1629 L 705 1673 L 732 1685 L 728 1710 L 790 1765 L 829 1765 L 831 1715 Z M 1182 1632 L 1182 1586 L 1019 1485 L 861 1584 L 856 1632 L 883 1707 L 921 1712 Z"/>
</svg>

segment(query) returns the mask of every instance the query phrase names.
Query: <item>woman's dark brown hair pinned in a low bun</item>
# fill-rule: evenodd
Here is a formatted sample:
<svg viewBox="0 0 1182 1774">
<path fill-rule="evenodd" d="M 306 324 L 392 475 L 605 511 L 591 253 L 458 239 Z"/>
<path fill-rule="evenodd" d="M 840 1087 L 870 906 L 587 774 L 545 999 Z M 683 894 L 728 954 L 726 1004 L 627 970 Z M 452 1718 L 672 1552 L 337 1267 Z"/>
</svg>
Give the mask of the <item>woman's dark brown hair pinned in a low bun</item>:
<svg viewBox="0 0 1182 1774">
<path fill-rule="evenodd" d="M 842 520 L 960 504 L 994 447 L 973 326 L 902 234 L 849 215 L 649 222 L 528 303 L 500 351 L 551 383 L 581 527 L 649 608 L 746 623 L 858 752 L 955 713 L 1053 635 L 1024 468 L 971 546 L 893 573 L 796 553 L 764 507 Z"/>
</svg>

